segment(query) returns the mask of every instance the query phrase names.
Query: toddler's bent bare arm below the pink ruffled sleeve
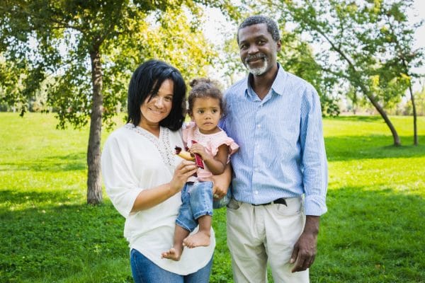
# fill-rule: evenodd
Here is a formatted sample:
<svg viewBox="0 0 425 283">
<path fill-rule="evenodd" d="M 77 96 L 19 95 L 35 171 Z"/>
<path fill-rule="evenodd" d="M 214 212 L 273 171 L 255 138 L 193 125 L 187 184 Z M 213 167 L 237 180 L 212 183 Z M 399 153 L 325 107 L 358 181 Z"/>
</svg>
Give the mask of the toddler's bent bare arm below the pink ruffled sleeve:
<svg viewBox="0 0 425 283">
<path fill-rule="evenodd" d="M 220 175 L 225 171 L 227 164 L 227 156 L 229 155 L 229 148 L 226 144 L 222 144 L 215 156 L 211 156 L 205 151 L 205 148 L 200 144 L 193 144 L 191 147 L 193 154 L 199 154 L 202 157 L 206 166 L 213 175 Z"/>
</svg>

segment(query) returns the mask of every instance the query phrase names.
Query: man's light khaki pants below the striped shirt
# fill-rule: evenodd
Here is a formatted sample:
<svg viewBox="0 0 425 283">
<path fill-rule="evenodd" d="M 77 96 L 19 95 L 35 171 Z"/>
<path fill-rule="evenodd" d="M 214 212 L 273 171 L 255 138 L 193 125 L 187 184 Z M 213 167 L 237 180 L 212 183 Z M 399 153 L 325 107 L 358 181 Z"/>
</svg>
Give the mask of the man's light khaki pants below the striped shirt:
<svg viewBox="0 0 425 283">
<path fill-rule="evenodd" d="M 227 246 L 235 283 L 267 282 L 267 262 L 275 283 L 308 283 L 308 270 L 292 273 L 293 246 L 305 225 L 302 198 L 285 204 L 227 204 Z"/>
</svg>

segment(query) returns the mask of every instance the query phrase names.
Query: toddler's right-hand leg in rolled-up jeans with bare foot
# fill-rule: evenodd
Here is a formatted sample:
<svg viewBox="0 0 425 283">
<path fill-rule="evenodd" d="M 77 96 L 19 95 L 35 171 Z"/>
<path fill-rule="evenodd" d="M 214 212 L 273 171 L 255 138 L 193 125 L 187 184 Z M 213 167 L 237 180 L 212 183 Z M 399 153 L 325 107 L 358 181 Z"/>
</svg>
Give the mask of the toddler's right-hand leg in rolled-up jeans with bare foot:
<svg viewBox="0 0 425 283">
<path fill-rule="evenodd" d="M 198 220 L 199 230 L 183 240 L 188 248 L 210 245 L 212 222 L 212 182 L 196 183 L 191 189 L 191 209 Z"/>
</svg>

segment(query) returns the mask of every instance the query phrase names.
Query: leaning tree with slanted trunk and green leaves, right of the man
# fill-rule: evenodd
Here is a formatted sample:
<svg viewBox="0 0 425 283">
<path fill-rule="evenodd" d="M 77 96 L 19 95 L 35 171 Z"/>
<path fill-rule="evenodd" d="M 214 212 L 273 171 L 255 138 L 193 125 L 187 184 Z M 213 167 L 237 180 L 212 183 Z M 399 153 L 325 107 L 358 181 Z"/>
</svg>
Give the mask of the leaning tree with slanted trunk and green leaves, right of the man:
<svg viewBox="0 0 425 283">
<path fill-rule="evenodd" d="M 395 60 L 395 42 L 388 40 L 382 27 L 388 19 L 397 21 L 401 18 L 412 1 L 266 2 L 283 6 L 279 9 L 283 21 L 296 23 L 295 33 L 307 33 L 310 41 L 321 48 L 315 59 L 322 71 L 341 81 L 340 86 L 368 98 L 390 128 L 393 144 L 401 145 L 397 130 L 385 112 L 385 105 L 397 102 L 404 95 L 408 80 L 403 75 L 402 64 Z M 399 39 L 407 40 L 407 37 Z"/>
</svg>

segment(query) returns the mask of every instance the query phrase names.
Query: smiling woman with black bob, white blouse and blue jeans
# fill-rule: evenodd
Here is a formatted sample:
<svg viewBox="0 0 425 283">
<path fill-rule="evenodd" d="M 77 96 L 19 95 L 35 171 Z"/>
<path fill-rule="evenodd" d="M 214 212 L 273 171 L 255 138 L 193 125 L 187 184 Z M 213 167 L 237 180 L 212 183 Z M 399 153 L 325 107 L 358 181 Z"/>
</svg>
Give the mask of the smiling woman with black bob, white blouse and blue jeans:
<svg viewBox="0 0 425 283">
<path fill-rule="evenodd" d="M 183 147 L 185 95 L 177 69 L 157 60 L 140 65 L 128 89 L 128 124 L 115 130 L 103 147 L 103 180 L 125 217 L 135 282 L 208 282 L 210 277 L 213 231 L 209 246 L 185 248 L 180 261 L 161 258 L 173 245 L 180 191 L 197 169 L 193 161 L 174 155 L 175 146 Z M 229 174 L 215 181 L 227 188 Z M 220 197 L 226 190 L 214 188 Z"/>
</svg>

